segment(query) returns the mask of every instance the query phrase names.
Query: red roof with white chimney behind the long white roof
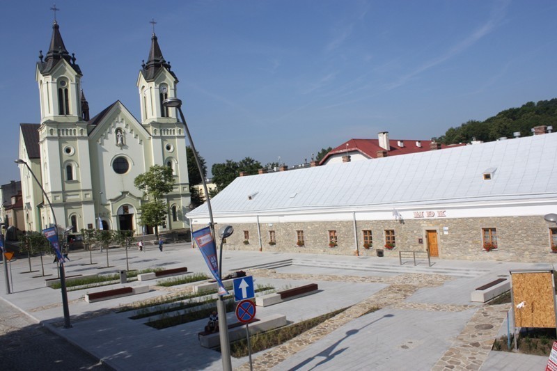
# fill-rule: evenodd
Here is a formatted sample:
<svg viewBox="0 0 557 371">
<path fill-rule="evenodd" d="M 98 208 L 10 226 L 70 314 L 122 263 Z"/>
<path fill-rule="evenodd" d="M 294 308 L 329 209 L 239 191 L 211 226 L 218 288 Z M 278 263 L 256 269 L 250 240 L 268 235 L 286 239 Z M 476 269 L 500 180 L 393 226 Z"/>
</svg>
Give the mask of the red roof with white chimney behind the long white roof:
<svg viewBox="0 0 557 371">
<path fill-rule="evenodd" d="M 387 152 L 387 156 L 396 156 L 396 155 L 407 155 L 408 153 L 417 153 L 417 152 L 427 152 L 430 151 L 430 143 L 432 141 L 421 141 L 421 140 L 409 140 L 405 139 L 404 147 L 400 147 L 398 145 L 399 139 L 389 139 L 389 145 L 391 149 Z M 418 147 L 416 144 L 417 142 L 421 143 L 421 147 Z M 348 145 L 347 145 L 348 144 Z M 456 145 L 444 145 L 441 144 L 441 149 L 444 148 L 453 148 L 453 147 L 460 147 L 460 145 L 465 144 L 456 144 Z M 345 152 L 360 152 L 365 157 L 370 159 L 377 158 L 377 151 L 383 151 L 379 145 L 379 139 L 350 139 L 350 141 L 344 142 L 343 144 L 339 145 L 338 147 L 331 150 L 331 152 L 327 153 L 325 157 L 320 161 L 320 165 L 324 164 L 331 155 L 338 155 Z"/>
</svg>

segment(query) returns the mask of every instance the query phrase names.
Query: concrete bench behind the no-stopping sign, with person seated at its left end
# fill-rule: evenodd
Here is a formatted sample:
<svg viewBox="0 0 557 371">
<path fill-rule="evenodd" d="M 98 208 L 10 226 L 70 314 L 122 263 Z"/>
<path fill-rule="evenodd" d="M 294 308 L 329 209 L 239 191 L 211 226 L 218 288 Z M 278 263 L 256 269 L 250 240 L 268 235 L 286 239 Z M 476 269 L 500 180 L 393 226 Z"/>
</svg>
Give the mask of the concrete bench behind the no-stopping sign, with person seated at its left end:
<svg viewBox="0 0 557 371">
<path fill-rule="evenodd" d="M 286 326 L 286 316 L 285 315 L 269 315 L 269 317 L 261 318 L 256 321 L 253 319 L 249 323 L 249 334 L 253 335 L 255 333 L 260 333 L 263 331 L 269 331 L 272 329 L 277 329 L 278 327 Z M 215 348 L 221 345 L 221 340 L 219 332 L 214 333 L 199 333 L 199 345 L 205 348 Z M 237 324 L 232 324 L 228 326 L 228 340 L 236 341 L 242 338 L 246 338 L 246 328 L 244 324 L 238 322 Z"/>
</svg>

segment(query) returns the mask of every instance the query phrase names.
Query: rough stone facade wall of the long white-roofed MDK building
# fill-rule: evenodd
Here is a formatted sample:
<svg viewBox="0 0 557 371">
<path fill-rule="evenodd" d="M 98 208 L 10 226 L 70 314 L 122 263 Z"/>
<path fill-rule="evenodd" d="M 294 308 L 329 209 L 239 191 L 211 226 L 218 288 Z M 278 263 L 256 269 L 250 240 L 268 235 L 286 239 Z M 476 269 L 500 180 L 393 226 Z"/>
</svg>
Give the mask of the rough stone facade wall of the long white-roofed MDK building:
<svg viewBox="0 0 557 371">
<path fill-rule="evenodd" d="M 222 223 L 221 223 L 222 224 Z M 318 221 L 305 223 L 260 223 L 261 246 L 256 223 L 232 224 L 234 234 L 225 248 L 246 251 L 278 251 L 290 253 L 327 253 L 398 257 L 398 251 L 427 251 L 427 230 L 437 230 L 439 258 L 458 260 L 502 260 L 524 262 L 557 262 L 551 253 L 549 224 L 542 216 L 499 218 L 411 219 L 405 221 L 356 221 L 357 246 L 352 221 Z M 202 226 L 194 226 L 194 230 Z M 557 227 L 557 226 L 551 226 Z M 483 249 L 482 228 L 496 228 L 498 248 Z M 249 231 L 249 244 L 244 244 L 244 230 Z M 269 245 L 269 230 L 275 231 L 276 245 Z M 297 246 L 297 230 L 304 231 L 305 246 Z M 336 230 L 338 246 L 329 247 L 329 230 Z M 373 246 L 363 248 L 362 230 L 372 230 Z M 396 248 L 384 248 L 384 230 L 395 231 Z M 420 243 L 421 239 L 421 243 Z"/>
</svg>

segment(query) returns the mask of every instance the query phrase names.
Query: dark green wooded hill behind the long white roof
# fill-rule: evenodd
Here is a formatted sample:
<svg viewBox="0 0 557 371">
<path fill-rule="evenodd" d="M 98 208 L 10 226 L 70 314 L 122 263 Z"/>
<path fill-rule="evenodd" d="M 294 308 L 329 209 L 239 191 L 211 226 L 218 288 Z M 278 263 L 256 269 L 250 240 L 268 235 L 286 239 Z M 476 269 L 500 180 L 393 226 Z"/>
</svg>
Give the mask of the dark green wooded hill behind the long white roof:
<svg viewBox="0 0 557 371">
<path fill-rule="evenodd" d="M 520 108 L 506 109 L 485 121 L 470 120 L 459 127 L 451 127 L 437 140 L 444 144 L 477 141 L 496 141 L 502 136 L 512 138 L 513 133 L 529 136 L 535 126 L 553 126 L 557 130 L 557 98 L 528 102 Z"/>
</svg>

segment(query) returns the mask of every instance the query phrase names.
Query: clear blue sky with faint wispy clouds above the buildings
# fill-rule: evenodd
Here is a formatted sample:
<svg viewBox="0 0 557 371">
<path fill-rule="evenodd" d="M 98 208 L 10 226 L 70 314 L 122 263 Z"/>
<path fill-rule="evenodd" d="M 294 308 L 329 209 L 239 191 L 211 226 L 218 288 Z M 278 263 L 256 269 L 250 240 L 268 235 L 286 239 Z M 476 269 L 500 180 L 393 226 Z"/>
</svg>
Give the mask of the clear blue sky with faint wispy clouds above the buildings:
<svg viewBox="0 0 557 371">
<path fill-rule="evenodd" d="M 19 180 L 19 123 L 39 123 L 47 1 L 3 3 L 0 184 Z M 553 0 L 57 0 L 91 117 L 136 118 L 151 19 L 207 167 L 295 166 L 352 138 L 431 139 L 468 120 L 557 97 Z M 535 123 L 532 123 L 535 126 Z"/>
</svg>

